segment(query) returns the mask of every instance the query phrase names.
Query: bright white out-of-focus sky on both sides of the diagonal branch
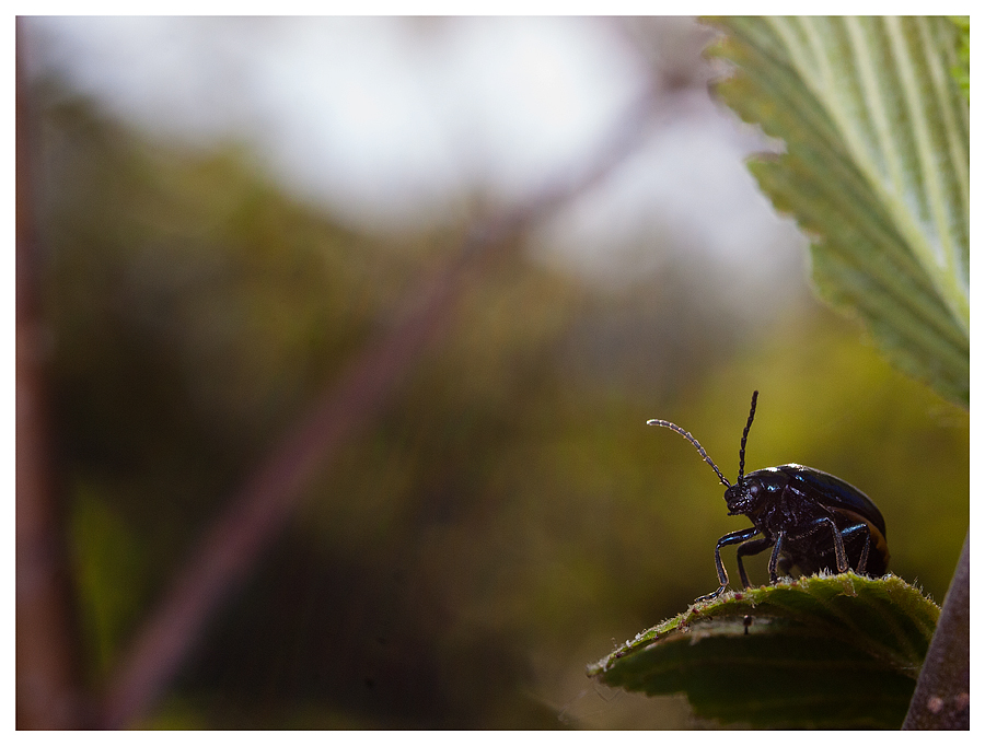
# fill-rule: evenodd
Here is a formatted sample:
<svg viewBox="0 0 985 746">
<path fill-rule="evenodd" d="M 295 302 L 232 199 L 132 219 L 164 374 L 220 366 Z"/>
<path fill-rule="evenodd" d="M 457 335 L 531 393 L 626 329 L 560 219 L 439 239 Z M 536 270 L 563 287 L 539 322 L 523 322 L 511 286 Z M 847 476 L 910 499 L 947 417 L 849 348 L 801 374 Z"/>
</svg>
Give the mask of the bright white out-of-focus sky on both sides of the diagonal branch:
<svg viewBox="0 0 985 746">
<path fill-rule="evenodd" d="M 460 217 L 476 195 L 522 202 L 595 155 L 646 84 L 611 19 L 28 23 L 40 67 L 116 116 L 193 144 L 245 141 L 288 190 L 384 231 Z M 652 235 L 649 261 L 696 250 L 733 285 L 790 271 L 760 260 L 796 240 L 742 164 L 762 142 L 699 91 L 668 123 L 545 230 L 557 253 L 589 276 L 631 278 Z"/>
</svg>

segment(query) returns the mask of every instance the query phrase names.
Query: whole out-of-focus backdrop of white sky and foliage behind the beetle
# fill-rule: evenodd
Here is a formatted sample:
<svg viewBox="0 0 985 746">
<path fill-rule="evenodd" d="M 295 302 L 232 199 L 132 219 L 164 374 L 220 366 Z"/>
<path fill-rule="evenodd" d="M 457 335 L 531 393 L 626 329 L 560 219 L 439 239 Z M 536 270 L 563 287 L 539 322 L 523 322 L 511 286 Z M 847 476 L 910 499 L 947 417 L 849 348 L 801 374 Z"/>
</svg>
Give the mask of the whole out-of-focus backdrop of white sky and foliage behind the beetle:
<svg viewBox="0 0 985 746">
<path fill-rule="evenodd" d="M 231 545 L 242 573 L 120 724 L 694 725 L 584 666 L 712 590 L 745 525 L 646 420 L 734 479 L 753 388 L 748 469 L 862 489 L 890 569 L 942 601 L 967 416 L 814 299 L 806 240 L 743 165 L 780 145 L 710 97 L 712 38 L 686 18 L 22 21 L 19 209 L 88 707 L 286 438 L 314 454 L 278 482 L 297 502 Z M 326 400 L 331 438 L 304 429 Z"/>
</svg>

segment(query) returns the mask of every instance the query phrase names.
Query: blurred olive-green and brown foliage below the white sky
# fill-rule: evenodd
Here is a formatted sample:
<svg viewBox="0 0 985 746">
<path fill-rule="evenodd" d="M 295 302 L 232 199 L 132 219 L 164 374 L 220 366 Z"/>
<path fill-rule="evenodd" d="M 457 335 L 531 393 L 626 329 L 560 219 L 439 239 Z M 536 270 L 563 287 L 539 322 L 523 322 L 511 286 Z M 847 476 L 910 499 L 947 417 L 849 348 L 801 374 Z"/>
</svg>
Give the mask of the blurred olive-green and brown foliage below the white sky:
<svg viewBox="0 0 985 746">
<path fill-rule="evenodd" d="M 56 424 L 100 686 L 209 520 L 465 226 L 360 235 L 241 149 L 149 144 L 36 97 Z M 583 663 L 709 591 L 714 543 L 739 527 L 693 447 L 646 420 L 691 430 L 731 476 L 753 387 L 748 468 L 797 461 L 864 489 L 891 569 L 940 601 L 967 525 L 967 416 L 806 288 L 738 336 L 700 267 L 662 267 L 613 291 L 505 257 L 144 725 L 682 726 L 679 701 L 596 692 Z"/>
</svg>

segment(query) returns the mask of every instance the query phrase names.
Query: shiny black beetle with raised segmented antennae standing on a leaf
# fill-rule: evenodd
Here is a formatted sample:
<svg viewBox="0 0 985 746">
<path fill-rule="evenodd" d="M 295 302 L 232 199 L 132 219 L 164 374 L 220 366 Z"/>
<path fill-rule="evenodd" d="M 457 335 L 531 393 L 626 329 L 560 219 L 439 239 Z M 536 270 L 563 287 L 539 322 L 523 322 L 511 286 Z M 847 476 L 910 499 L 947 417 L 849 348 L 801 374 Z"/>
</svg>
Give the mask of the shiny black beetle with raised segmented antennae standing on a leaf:
<svg viewBox="0 0 985 746">
<path fill-rule="evenodd" d="M 820 570 L 858 574 L 881 575 L 889 563 L 885 543 L 885 521 L 876 503 L 866 494 L 837 477 L 800 464 L 772 466 L 743 476 L 745 469 L 745 441 L 756 413 L 753 392 L 749 421 L 742 431 L 739 446 L 739 478 L 730 485 L 715 462 L 705 453 L 702 444 L 683 428 L 667 420 L 650 420 L 647 424 L 670 428 L 683 435 L 697 448 L 715 474 L 726 486 L 725 499 L 729 515 L 745 515 L 752 521 L 750 528 L 726 534 L 715 546 L 715 567 L 718 569 L 717 591 L 700 596 L 708 601 L 721 595 L 729 585 L 729 576 L 721 563 L 721 548 L 738 544 L 739 576 L 742 586 L 749 587 L 749 578 L 742 566 L 746 555 L 757 555 L 773 547 L 769 557 L 769 582 L 776 583 L 777 572 L 787 574 L 797 567 L 804 574 Z M 762 534 L 760 538 L 753 538 Z"/>
</svg>

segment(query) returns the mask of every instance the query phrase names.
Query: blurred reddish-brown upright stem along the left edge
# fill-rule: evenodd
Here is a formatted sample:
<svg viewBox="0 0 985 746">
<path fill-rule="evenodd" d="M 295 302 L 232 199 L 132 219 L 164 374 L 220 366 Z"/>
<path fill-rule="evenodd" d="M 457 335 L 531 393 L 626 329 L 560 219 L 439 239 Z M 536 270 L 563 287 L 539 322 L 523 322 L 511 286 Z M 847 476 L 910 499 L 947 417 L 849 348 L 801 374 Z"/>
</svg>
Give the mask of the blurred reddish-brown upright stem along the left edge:
<svg viewBox="0 0 985 746">
<path fill-rule="evenodd" d="M 84 696 L 66 533 L 53 478 L 31 180 L 23 33 L 16 24 L 16 726 L 79 728 Z"/>
</svg>

